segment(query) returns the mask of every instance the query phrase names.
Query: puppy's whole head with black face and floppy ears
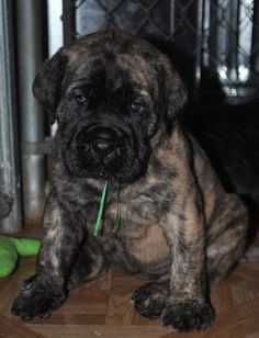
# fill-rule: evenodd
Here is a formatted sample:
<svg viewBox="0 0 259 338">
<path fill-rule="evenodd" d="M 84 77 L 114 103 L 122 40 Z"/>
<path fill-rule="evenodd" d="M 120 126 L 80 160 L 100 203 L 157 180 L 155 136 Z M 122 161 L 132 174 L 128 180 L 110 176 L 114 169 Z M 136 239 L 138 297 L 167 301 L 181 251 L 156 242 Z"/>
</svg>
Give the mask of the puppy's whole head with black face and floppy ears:
<svg viewBox="0 0 259 338">
<path fill-rule="evenodd" d="M 34 95 L 58 121 L 70 174 L 132 182 L 170 134 L 185 90 L 168 61 L 125 32 L 79 38 L 44 63 Z"/>
</svg>

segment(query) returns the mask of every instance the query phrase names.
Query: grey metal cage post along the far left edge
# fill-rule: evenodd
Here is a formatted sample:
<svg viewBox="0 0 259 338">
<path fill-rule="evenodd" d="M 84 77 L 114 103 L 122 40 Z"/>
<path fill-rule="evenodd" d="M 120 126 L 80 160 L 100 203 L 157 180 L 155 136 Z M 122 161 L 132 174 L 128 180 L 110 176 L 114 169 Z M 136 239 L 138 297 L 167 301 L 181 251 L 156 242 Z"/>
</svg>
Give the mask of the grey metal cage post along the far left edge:
<svg viewBox="0 0 259 338">
<path fill-rule="evenodd" d="M 16 232 L 22 226 L 21 176 L 13 58 L 11 1 L 0 1 L 0 189 L 13 199 L 12 212 L 0 229 Z"/>
</svg>

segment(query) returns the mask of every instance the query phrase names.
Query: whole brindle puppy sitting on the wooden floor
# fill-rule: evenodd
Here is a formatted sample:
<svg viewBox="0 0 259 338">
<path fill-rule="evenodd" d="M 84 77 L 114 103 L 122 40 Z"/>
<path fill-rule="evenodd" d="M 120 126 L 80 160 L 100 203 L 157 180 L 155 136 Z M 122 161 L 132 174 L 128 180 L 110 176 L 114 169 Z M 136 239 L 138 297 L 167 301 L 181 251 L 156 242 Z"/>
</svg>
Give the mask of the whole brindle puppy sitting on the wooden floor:
<svg viewBox="0 0 259 338">
<path fill-rule="evenodd" d="M 150 280 L 133 295 L 142 315 L 178 331 L 211 326 L 210 286 L 241 257 L 247 212 L 179 125 L 187 94 L 167 57 L 121 31 L 92 34 L 45 61 L 33 91 L 58 131 L 36 273 L 13 314 L 45 319 L 70 288 L 117 264 Z"/>
</svg>

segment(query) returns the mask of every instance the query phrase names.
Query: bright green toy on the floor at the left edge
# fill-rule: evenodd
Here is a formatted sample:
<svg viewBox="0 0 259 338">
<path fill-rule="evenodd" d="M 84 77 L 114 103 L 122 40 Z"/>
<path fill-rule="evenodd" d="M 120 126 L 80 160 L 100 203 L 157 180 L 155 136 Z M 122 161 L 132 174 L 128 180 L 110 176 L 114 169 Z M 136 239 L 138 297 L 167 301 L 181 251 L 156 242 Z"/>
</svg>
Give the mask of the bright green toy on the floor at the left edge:
<svg viewBox="0 0 259 338">
<path fill-rule="evenodd" d="M 40 247 L 37 239 L 0 236 L 0 278 L 13 272 L 19 256 L 37 255 Z"/>
</svg>

